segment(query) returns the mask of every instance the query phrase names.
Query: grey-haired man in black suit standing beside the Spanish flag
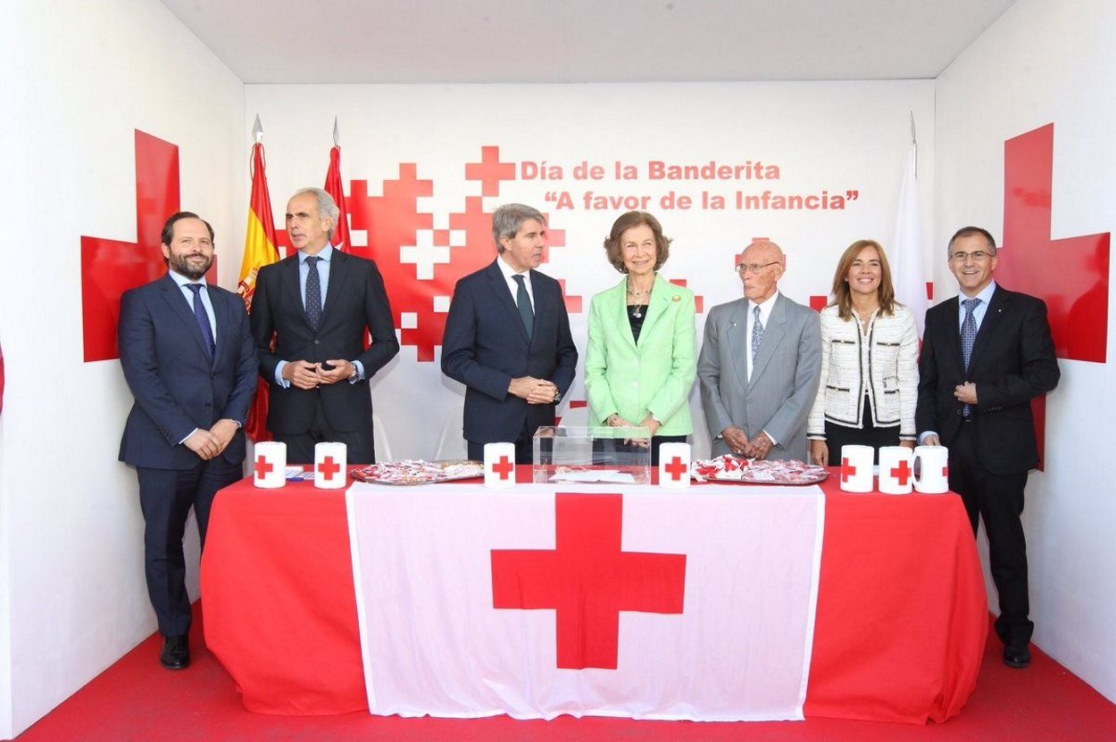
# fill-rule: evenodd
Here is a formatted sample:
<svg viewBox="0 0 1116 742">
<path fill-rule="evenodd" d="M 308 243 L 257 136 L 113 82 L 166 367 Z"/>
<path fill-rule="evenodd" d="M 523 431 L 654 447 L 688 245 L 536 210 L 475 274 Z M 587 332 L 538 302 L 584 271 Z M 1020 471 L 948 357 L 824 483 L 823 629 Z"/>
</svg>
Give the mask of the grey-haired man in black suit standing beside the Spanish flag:
<svg viewBox="0 0 1116 742">
<path fill-rule="evenodd" d="M 316 443 L 337 441 L 349 463 L 373 463 L 368 380 L 400 352 L 376 264 L 329 244 L 338 217 L 321 188 L 297 192 L 287 234 L 298 253 L 256 279 L 251 325 L 270 390 L 268 430 L 287 445 L 288 462 L 312 463 Z"/>
</svg>

